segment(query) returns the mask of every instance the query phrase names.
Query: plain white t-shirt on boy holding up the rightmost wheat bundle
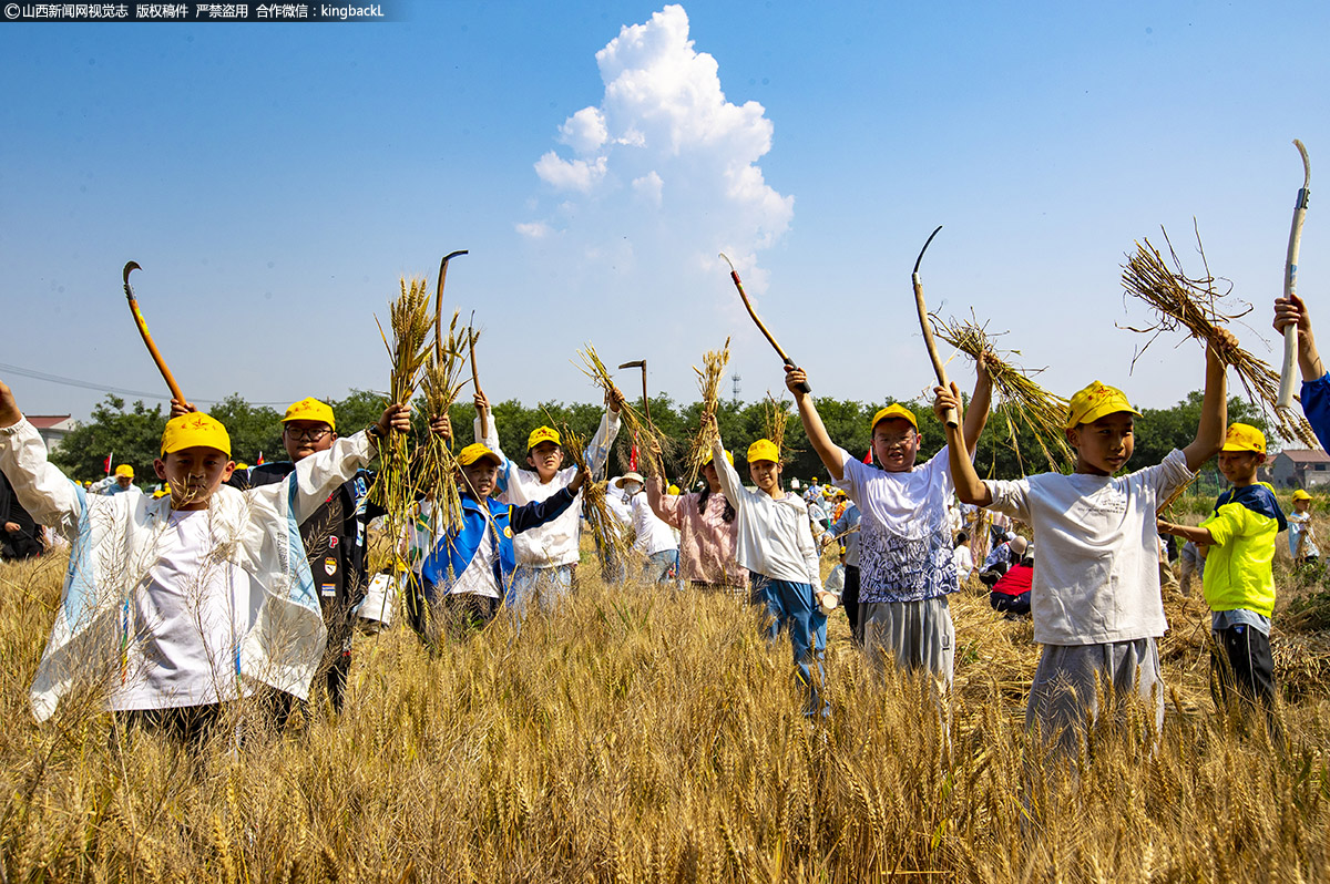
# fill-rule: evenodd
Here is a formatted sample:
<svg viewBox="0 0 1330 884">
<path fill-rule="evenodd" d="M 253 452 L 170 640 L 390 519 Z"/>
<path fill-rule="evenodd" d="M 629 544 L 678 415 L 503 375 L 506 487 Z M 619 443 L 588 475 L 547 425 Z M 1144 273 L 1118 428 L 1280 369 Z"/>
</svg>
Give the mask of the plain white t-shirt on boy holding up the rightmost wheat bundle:
<svg viewBox="0 0 1330 884">
<path fill-rule="evenodd" d="M 1154 512 L 1192 479 L 1177 449 L 1128 476 L 1041 473 L 986 481 L 990 509 L 1033 526 L 1039 566 L 1031 586 L 1035 641 L 1101 645 L 1162 635 Z"/>
</svg>

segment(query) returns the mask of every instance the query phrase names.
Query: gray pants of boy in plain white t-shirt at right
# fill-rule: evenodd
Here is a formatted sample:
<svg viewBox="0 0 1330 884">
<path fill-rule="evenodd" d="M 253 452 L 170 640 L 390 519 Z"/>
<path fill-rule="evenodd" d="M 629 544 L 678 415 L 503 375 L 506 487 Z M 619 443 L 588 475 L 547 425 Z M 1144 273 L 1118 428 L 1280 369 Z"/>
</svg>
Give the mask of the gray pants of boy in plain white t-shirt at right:
<svg viewBox="0 0 1330 884">
<path fill-rule="evenodd" d="M 1103 685 L 1100 685 L 1103 682 Z M 1164 727 L 1164 679 L 1153 638 L 1104 645 L 1044 645 L 1029 686 L 1025 727 L 1037 730 L 1057 750 L 1076 755 L 1085 728 L 1099 720 L 1100 691 L 1121 717 L 1129 701 L 1153 711 L 1154 731 Z"/>
</svg>

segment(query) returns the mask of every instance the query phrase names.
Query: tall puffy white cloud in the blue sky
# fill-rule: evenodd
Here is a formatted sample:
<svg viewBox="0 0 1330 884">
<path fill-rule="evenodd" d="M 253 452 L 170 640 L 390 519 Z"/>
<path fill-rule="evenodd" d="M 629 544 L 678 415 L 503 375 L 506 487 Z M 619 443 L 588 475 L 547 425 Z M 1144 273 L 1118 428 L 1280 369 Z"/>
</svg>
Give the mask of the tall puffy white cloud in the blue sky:
<svg viewBox="0 0 1330 884">
<path fill-rule="evenodd" d="M 794 198 L 771 187 L 758 165 L 774 134 L 765 108 L 725 97 L 720 66 L 696 49 L 681 5 L 625 25 L 596 64 L 600 104 L 557 133 L 571 156 L 549 150 L 535 164 L 557 198 L 537 202 L 536 223 L 553 223 L 579 246 L 565 254 L 583 255 L 588 279 L 632 269 L 642 298 L 668 288 L 690 292 L 692 307 L 706 303 L 706 280 L 728 284 L 716 257 L 722 246 L 761 288 L 757 253 L 794 217 Z"/>
</svg>

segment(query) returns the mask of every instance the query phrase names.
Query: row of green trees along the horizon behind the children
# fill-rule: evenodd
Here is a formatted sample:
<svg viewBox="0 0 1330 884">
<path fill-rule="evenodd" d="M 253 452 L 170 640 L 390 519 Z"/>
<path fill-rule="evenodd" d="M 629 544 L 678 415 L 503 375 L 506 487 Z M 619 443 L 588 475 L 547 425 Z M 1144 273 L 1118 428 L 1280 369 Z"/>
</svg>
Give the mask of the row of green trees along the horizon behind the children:
<svg viewBox="0 0 1330 884">
<path fill-rule="evenodd" d="M 1129 469 L 1138 469 L 1160 463 L 1173 448 L 1181 448 L 1192 441 L 1201 413 L 1200 391 L 1194 391 L 1172 408 L 1146 408 L 1136 421 L 1136 451 Z M 352 389 L 343 399 L 323 399 L 332 407 L 336 428 L 342 435 L 363 429 L 378 420 L 384 407 L 384 397 L 367 389 Z M 642 400 L 632 403 L 640 412 Z M 862 459 L 870 445 L 868 421 L 882 404 L 867 404 L 849 399 L 819 397 L 818 413 L 826 424 L 831 439 Z M 919 449 L 919 463 L 936 453 L 943 443 L 942 425 L 932 413 L 931 403 L 902 401 L 914 411 L 919 420 L 923 441 Z M 423 404 L 415 404 L 414 419 L 416 433 L 423 437 L 426 415 Z M 823 477 L 817 453 L 807 443 L 803 425 L 799 423 L 794 403 L 783 399 L 741 403 L 721 400 L 717 404 L 717 425 L 726 448 L 742 461 L 743 453 L 755 439 L 769 433 L 769 413 L 783 408 L 787 413 L 785 428 L 786 479 L 807 481 L 814 476 Z M 666 443 L 666 471 L 678 481 L 684 472 L 684 459 L 688 443 L 697 432 L 701 403 L 676 403 L 665 395 L 652 396 L 652 423 Z M 255 464 L 262 453 L 265 460 L 285 460 L 282 447 L 282 412 L 267 405 L 251 405 L 238 393 L 227 396 L 207 409 L 226 427 L 231 437 L 231 456 L 238 463 Z M 567 427 L 584 439 L 591 439 L 600 424 L 604 405 L 589 403 L 565 404 L 559 401 L 524 405 L 516 399 L 493 404 L 493 419 L 499 432 L 499 444 L 504 453 L 519 463 L 524 460 L 527 435 L 545 424 L 560 432 Z M 149 407 L 142 400 L 132 405 L 120 396 L 106 396 L 98 403 L 92 416 L 70 431 L 60 447 L 52 452 L 56 463 L 68 476 L 78 480 L 96 480 L 105 475 L 105 461 L 113 456 L 114 464 L 130 464 L 141 483 L 150 483 L 153 460 L 157 457 L 162 428 L 169 412 L 162 405 Z M 469 401 L 456 403 L 450 411 L 458 445 L 472 439 L 475 408 Z M 1244 421 L 1266 429 L 1265 417 L 1250 403 L 1234 396 L 1229 400 L 1229 421 Z M 620 432 L 614 449 L 610 452 L 609 471 L 617 475 L 628 471 L 633 440 L 626 432 Z M 1035 431 L 1019 415 L 1008 417 L 1001 408 L 995 408 L 988 417 L 988 425 L 979 439 L 976 464 L 980 475 L 992 479 L 1017 479 L 1024 475 L 1048 471 Z M 1063 471 L 1069 464 L 1059 464 Z M 1213 469 L 1213 464 L 1208 465 Z"/>
</svg>

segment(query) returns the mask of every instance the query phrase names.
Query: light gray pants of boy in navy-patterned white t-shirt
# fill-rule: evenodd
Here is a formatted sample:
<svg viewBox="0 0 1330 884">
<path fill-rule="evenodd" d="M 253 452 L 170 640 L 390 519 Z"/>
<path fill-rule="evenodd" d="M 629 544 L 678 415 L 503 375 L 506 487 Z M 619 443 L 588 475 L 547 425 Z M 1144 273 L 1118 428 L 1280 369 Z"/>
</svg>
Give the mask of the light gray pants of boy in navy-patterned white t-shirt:
<svg viewBox="0 0 1330 884">
<path fill-rule="evenodd" d="M 947 597 L 918 602 L 868 602 L 859 606 L 863 646 L 878 665 L 894 658 L 902 670 L 923 669 L 950 689 L 956 658 L 956 627 Z"/>
</svg>

